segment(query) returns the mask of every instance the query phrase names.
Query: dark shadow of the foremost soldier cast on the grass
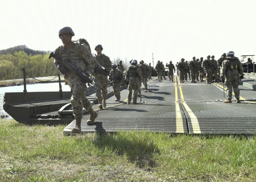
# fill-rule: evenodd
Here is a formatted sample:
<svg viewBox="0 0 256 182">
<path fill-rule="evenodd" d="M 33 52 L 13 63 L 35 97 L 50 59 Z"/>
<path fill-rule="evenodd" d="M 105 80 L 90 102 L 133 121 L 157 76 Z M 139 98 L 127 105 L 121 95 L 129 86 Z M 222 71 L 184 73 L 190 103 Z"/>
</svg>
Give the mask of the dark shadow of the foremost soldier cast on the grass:
<svg viewBox="0 0 256 182">
<path fill-rule="evenodd" d="M 123 156 L 139 168 L 151 170 L 155 167 L 153 154 L 160 153 L 154 141 L 147 138 L 146 131 L 98 133 L 95 146 L 108 148 L 111 153 Z"/>
</svg>

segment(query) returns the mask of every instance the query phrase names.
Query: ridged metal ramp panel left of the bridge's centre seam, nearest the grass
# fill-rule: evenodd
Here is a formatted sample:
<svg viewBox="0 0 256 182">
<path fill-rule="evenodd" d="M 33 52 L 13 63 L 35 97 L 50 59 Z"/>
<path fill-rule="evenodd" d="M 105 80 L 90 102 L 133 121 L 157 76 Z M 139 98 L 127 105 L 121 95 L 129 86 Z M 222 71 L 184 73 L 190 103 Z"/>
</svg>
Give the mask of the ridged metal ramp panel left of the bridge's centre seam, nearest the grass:
<svg viewBox="0 0 256 182">
<path fill-rule="evenodd" d="M 98 111 L 98 117 L 94 125 L 88 126 L 82 119 L 82 133 L 86 132 L 115 132 L 130 130 L 146 130 L 152 132 L 187 133 L 184 113 L 182 118 L 176 118 L 174 103 L 143 104 L 143 105 L 118 105 Z M 114 112 L 112 112 L 114 111 Z M 75 121 L 64 129 L 65 135 L 71 134 Z"/>
</svg>

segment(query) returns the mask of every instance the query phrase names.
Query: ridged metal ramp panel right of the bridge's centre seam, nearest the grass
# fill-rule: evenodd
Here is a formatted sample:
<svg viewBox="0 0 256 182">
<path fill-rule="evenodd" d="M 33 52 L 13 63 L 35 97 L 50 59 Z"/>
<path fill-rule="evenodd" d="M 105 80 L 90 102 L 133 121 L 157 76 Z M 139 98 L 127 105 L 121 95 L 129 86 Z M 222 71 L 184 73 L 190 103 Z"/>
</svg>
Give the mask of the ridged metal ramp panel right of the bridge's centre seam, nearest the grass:
<svg viewBox="0 0 256 182">
<path fill-rule="evenodd" d="M 187 112 L 184 109 L 189 133 L 256 134 L 255 104 L 223 102 L 184 104 L 187 104 L 192 111 Z"/>
</svg>

